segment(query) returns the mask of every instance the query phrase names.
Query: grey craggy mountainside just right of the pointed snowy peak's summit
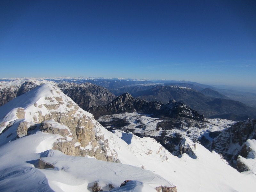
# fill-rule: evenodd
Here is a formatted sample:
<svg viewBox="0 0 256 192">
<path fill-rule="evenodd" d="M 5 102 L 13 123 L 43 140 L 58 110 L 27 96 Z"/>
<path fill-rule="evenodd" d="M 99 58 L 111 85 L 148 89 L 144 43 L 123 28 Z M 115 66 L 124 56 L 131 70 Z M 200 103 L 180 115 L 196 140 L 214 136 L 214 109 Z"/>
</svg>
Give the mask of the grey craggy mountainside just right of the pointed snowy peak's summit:
<svg viewBox="0 0 256 192">
<path fill-rule="evenodd" d="M 116 98 L 108 89 L 91 83 L 65 82 L 58 86 L 84 110 L 88 110 L 92 106 L 106 105 Z"/>
</svg>

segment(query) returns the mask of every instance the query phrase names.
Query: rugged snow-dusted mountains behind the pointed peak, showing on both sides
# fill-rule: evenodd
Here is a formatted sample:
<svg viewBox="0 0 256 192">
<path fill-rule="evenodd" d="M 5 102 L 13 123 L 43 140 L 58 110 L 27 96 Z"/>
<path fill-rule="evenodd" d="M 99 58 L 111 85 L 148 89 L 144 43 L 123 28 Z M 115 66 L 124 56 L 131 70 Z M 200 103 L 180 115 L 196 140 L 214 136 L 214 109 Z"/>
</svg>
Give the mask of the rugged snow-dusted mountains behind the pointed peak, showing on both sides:
<svg viewBox="0 0 256 192">
<path fill-rule="evenodd" d="M 0 82 L 0 106 L 45 83 L 49 83 L 49 81 L 26 78 Z M 76 84 L 62 81 L 59 84 L 52 83 L 58 86 L 84 110 L 92 106 L 106 105 L 116 98 L 108 89 L 91 83 Z"/>
</svg>

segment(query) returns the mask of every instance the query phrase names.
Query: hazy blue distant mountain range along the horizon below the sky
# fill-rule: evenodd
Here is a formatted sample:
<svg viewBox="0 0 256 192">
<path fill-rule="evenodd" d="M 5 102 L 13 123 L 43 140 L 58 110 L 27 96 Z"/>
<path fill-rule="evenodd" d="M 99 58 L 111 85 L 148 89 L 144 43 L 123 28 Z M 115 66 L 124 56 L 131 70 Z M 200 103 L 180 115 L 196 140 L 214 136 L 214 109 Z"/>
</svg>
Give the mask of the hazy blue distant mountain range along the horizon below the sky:
<svg viewBox="0 0 256 192">
<path fill-rule="evenodd" d="M 230 100 L 227 96 L 213 90 L 214 87 L 212 86 L 194 82 L 152 82 L 148 80 L 84 77 L 52 78 L 48 80 L 56 82 L 62 91 L 76 101 L 84 110 L 93 106 L 106 105 L 115 99 L 116 96 L 128 92 L 132 97 L 147 100 L 148 102 L 161 101 L 167 104 L 173 99 L 188 105 L 208 118 L 226 118 L 230 120 L 256 118 L 256 108 L 246 106 L 240 101 Z M 19 82 L 22 80 L 18 79 L 15 81 Z M 44 79 L 44 81 L 46 80 Z M 94 84 L 90 84 L 88 81 Z M 16 96 L 35 88 L 35 86 L 40 84 L 40 81 L 29 80 L 28 82 L 28 80 L 23 79 L 23 83 L 13 85 L 9 88 L 6 87 L 7 83 L 4 83 L 6 86 L 2 84 L 2 88 L 0 89 L 0 104 L 3 105 Z"/>
</svg>

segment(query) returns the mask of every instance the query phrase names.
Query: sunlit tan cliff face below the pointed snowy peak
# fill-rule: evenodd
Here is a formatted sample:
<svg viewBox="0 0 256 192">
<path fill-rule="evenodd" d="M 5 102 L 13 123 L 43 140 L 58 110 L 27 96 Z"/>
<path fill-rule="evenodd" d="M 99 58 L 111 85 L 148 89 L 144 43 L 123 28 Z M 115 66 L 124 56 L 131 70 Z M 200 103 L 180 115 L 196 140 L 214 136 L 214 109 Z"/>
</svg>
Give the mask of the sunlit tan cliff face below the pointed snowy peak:
<svg viewBox="0 0 256 192">
<path fill-rule="evenodd" d="M 74 120 L 73 120 L 74 121 Z M 94 124 L 90 119 L 83 118 L 77 123 L 63 126 L 55 121 L 43 121 L 40 130 L 47 133 L 59 134 L 64 138 L 60 138 L 59 142 L 55 142 L 52 149 L 59 150 L 67 155 L 72 156 L 94 156 L 96 159 L 103 161 L 117 161 L 113 157 L 106 156 L 108 146 L 100 147 L 100 139 L 103 141 L 103 135 L 98 138 L 95 137 Z M 105 141 L 106 142 L 106 141 Z M 107 144 L 107 143 L 105 143 Z M 105 151 L 102 151 L 105 150 Z"/>
</svg>

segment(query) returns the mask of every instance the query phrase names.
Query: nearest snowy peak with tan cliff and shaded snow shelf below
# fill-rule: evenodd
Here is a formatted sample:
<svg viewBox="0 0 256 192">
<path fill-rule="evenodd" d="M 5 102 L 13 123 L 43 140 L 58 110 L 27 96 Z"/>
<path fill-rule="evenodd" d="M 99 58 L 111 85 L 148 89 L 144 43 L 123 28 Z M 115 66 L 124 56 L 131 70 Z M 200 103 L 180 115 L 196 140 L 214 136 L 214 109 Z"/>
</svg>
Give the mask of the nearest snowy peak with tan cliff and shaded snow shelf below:
<svg viewBox="0 0 256 192">
<path fill-rule="evenodd" d="M 153 172 L 96 160 L 120 162 L 108 142 L 111 138 L 104 137 L 106 130 L 52 84 L 11 100 L 0 113 L 0 188 L 4 191 L 176 190 Z M 124 180 L 132 181 L 120 188 Z"/>
</svg>

